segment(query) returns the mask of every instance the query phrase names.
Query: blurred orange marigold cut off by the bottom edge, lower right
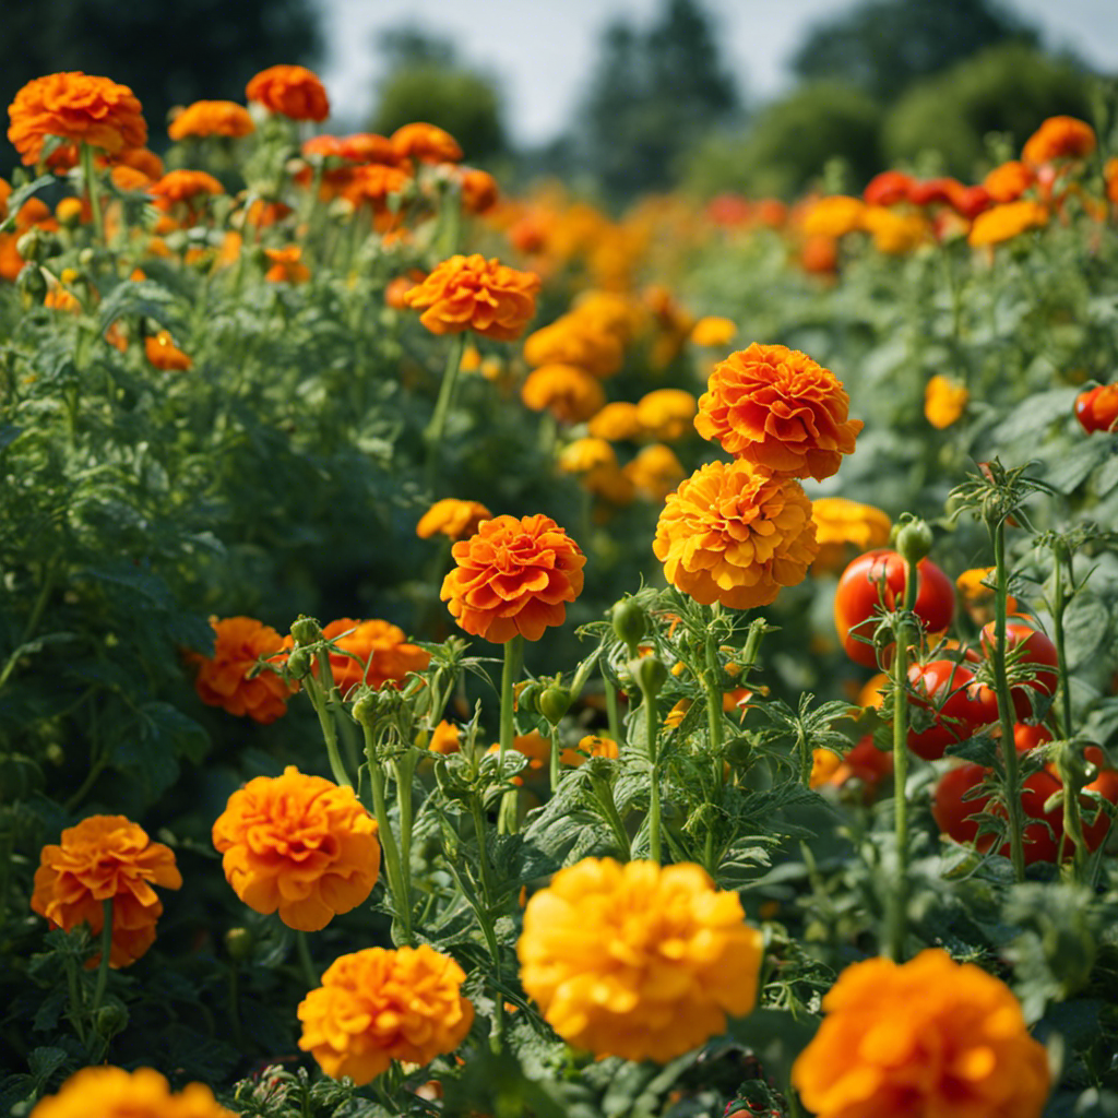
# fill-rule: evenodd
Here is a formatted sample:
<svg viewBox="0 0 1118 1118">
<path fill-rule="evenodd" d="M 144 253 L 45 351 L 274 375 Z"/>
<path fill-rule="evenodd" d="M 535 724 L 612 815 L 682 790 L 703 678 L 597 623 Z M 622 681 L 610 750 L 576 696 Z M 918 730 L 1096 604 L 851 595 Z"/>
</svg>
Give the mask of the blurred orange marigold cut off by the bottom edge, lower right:
<svg viewBox="0 0 1118 1118">
<path fill-rule="evenodd" d="M 817 1118 L 1040 1118 L 1043 1045 L 1008 987 L 946 951 L 847 967 L 792 1082 Z"/>
</svg>

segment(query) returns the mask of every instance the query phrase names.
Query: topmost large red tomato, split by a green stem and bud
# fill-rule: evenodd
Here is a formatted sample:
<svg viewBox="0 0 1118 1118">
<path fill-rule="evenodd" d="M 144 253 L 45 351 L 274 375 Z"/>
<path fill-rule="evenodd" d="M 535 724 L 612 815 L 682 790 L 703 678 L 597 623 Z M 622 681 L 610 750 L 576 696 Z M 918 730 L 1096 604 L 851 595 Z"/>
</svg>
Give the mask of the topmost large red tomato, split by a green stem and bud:
<svg viewBox="0 0 1118 1118">
<path fill-rule="evenodd" d="M 930 559 L 921 559 L 916 570 L 916 614 L 928 632 L 941 633 L 955 616 L 955 585 Z M 879 605 L 893 609 L 903 597 L 904 560 L 896 551 L 866 551 L 842 572 L 835 591 L 835 627 L 855 664 L 877 666 L 873 645 L 866 642 L 873 638 Z"/>
</svg>

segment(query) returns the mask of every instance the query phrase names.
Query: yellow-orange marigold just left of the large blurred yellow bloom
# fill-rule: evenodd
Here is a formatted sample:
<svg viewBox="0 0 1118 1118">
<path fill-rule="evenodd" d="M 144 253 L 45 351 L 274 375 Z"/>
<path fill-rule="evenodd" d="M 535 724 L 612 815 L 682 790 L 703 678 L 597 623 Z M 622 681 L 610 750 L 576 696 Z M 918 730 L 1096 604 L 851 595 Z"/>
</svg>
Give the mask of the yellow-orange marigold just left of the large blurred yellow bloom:
<svg viewBox="0 0 1118 1118">
<path fill-rule="evenodd" d="M 465 978 L 454 959 L 426 944 L 343 955 L 300 1003 L 299 1046 L 332 1079 L 349 1076 L 358 1086 L 394 1060 L 430 1063 L 453 1052 L 474 1023 L 473 1004 L 461 993 Z"/>
</svg>

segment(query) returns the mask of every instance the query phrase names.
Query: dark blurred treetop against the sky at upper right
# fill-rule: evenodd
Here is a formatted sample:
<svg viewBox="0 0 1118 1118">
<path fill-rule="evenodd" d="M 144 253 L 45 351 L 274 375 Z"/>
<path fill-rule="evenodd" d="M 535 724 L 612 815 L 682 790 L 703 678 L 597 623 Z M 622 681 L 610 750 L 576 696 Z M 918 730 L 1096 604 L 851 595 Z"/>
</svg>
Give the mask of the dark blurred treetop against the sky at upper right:
<svg viewBox="0 0 1118 1118">
<path fill-rule="evenodd" d="M 1038 32 L 994 0 L 866 0 L 808 32 L 792 66 L 882 102 L 988 47 L 1035 47 Z"/>
</svg>

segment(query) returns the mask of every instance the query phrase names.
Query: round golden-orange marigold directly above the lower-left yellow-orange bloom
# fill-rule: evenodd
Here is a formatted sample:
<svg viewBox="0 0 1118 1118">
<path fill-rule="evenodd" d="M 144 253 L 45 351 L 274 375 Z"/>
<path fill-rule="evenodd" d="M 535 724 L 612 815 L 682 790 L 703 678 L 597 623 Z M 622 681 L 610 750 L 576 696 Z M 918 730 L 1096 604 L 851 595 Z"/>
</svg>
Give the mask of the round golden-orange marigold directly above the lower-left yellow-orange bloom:
<svg viewBox="0 0 1118 1118">
<path fill-rule="evenodd" d="M 319 931 L 364 901 L 377 883 L 377 822 L 352 788 L 288 765 L 230 797 L 214 824 L 225 879 L 254 912 Z"/>
</svg>

